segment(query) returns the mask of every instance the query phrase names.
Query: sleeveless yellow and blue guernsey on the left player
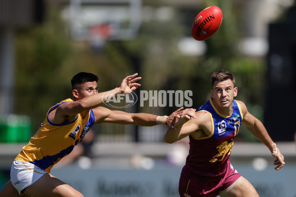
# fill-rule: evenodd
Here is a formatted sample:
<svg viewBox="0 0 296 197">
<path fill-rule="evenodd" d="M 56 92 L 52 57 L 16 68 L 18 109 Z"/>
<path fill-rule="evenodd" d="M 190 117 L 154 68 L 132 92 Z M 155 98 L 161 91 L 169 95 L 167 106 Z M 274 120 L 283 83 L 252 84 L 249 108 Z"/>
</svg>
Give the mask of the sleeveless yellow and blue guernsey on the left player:
<svg viewBox="0 0 296 197">
<path fill-rule="evenodd" d="M 95 122 L 93 110 L 91 109 L 84 119 L 79 114 L 73 122 L 63 124 L 50 122 L 48 114 L 66 101 L 73 100 L 63 100 L 49 109 L 37 133 L 31 137 L 29 143 L 14 160 L 30 162 L 45 172 L 50 172 L 54 164 L 71 153 L 74 146 L 80 143 Z"/>
</svg>

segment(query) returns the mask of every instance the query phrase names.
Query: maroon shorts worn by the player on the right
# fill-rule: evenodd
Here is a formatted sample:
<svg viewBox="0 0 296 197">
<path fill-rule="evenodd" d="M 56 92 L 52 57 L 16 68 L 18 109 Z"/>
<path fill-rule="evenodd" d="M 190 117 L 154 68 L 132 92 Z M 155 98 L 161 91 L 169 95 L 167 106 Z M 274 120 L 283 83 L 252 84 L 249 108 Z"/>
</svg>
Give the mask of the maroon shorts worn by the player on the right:
<svg viewBox="0 0 296 197">
<path fill-rule="evenodd" d="M 227 162 L 224 176 L 221 180 L 202 179 L 198 180 L 183 176 L 181 173 L 179 182 L 180 197 L 217 197 L 222 190 L 232 185 L 241 175 Z"/>
</svg>

